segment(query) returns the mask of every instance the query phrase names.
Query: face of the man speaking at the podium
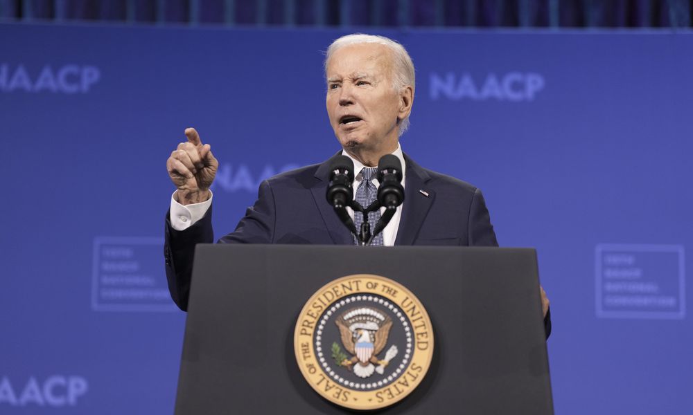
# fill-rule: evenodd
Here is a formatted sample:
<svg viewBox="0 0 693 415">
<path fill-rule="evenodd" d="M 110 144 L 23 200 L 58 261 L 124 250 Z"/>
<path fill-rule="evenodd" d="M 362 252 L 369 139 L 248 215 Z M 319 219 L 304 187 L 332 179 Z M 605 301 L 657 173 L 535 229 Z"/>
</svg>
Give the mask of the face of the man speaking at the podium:
<svg viewBox="0 0 693 415">
<path fill-rule="evenodd" d="M 344 46 L 327 62 L 327 113 L 350 154 L 383 155 L 397 148 L 397 123 L 411 104 L 393 88 L 393 73 L 392 53 L 380 44 Z"/>
</svg>

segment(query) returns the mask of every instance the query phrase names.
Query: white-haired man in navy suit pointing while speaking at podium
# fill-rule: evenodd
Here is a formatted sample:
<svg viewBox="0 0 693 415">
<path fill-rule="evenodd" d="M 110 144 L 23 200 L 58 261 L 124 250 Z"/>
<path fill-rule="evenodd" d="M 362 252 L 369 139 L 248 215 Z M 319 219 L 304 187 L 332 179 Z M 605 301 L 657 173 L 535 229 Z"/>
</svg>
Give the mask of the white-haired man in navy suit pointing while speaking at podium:
<svg viewBox="0 0 693 415">
<path fill-rule="evenodd" d="M 374 243 L 393 245 L 498 246 L 484 198 L 476 187 L 424 169 L 403 154 L 399 136 L 414 103 L 414 65 L 400 44 L 386 37 L 347 35 L 325 59 L 326 107 L 342 153 L 358 172 L 354 188 L 378 186 L 375 166 L 394 154 L 403 166 L 405 202 Z M 218 162 L 195 129 L 171 153 L 166 166 L 177 187 L 166 221 L 166 275 L 171 295 L 187 307 L 195 243 L 213 241 L 211 192 Z M 264 181 L 258 200 L 222 243 L 355 243 L 326 202 L 330 169 L 303 167 Z M 360 212 L 354 214 L 362 221 Z M 377 213 L 376 213 L 377 215 Z M 371 216 L 369 216 L 372 219 Z M 548 300 L 541 290 L 550 331 Z"/>
</svg>

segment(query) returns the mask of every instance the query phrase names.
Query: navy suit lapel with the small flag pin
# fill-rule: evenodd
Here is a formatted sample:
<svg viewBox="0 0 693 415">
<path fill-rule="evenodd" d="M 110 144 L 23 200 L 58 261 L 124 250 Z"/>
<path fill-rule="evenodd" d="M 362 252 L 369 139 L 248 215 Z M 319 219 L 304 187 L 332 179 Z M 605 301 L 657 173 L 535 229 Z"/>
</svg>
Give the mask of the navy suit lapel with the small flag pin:
<svg viewBox="0 0 693 415">
<path fill-rule="evenodd" d="M 426 170 L 414 163 L 414 160 L 406 154 L 404 160 L 407 163 L 404 204 L 402 206 L 402 219 L 397 230 L 395 245 L 412 245 L 419 229 L 426 219 L 426 214 L 435 199 L 435 192 L 426 187 L 426 182 L 430 181 L 430 176 Z M 428 193 L 428 196 L 419 192 Z"/>
</svg>

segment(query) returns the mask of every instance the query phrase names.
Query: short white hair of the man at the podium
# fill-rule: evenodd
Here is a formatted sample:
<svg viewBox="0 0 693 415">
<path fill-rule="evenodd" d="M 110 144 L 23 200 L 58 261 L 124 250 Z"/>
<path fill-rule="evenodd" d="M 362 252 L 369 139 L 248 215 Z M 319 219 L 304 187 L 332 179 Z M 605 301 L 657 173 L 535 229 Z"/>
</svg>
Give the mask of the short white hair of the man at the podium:
<svg viewBox="0 0 693 415">
<path fill-rule="evenodd" d="M 414 62 L 407 53 L 407 50 L 401 44 L 398 44 L 389 37 L 365 35 L 363 33 L 354 33 L 353 35 L 342 36 L 336 39 L 325 53 L 325 77 L 327 77 L 327 62 L 332 57 L 333 53 L 339 48 L 355 44 L 380 44 L 387 46 L 392 52 L 392 60 L 394 62 L 394 73 L 392 74 L 392 87 L 399 92 L 407 86 L 415 88 L 416 77 L 414 75 Z M 398 125 L 398 135 L 402 135 L 409 128 L 409 116 L 403 119 Z"/>
</svg>

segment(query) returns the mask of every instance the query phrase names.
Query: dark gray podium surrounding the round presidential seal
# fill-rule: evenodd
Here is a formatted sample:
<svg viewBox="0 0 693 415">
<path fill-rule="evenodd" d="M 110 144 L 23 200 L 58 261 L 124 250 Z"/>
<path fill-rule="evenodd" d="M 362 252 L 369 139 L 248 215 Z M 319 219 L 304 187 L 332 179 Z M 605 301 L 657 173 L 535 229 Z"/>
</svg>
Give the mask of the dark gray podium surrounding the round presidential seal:
<svg viewBox="0 0 693 415">
<path fill-rule="evenodd" d="M 195 254 L 175 413 L 353 413 L 294 352 L 304 304 L 353 274 L 409 288 L 435 332 L 421 385 L 378 413 L 553 414 L 534 250 L 224 244 Z"/>
</svg>

